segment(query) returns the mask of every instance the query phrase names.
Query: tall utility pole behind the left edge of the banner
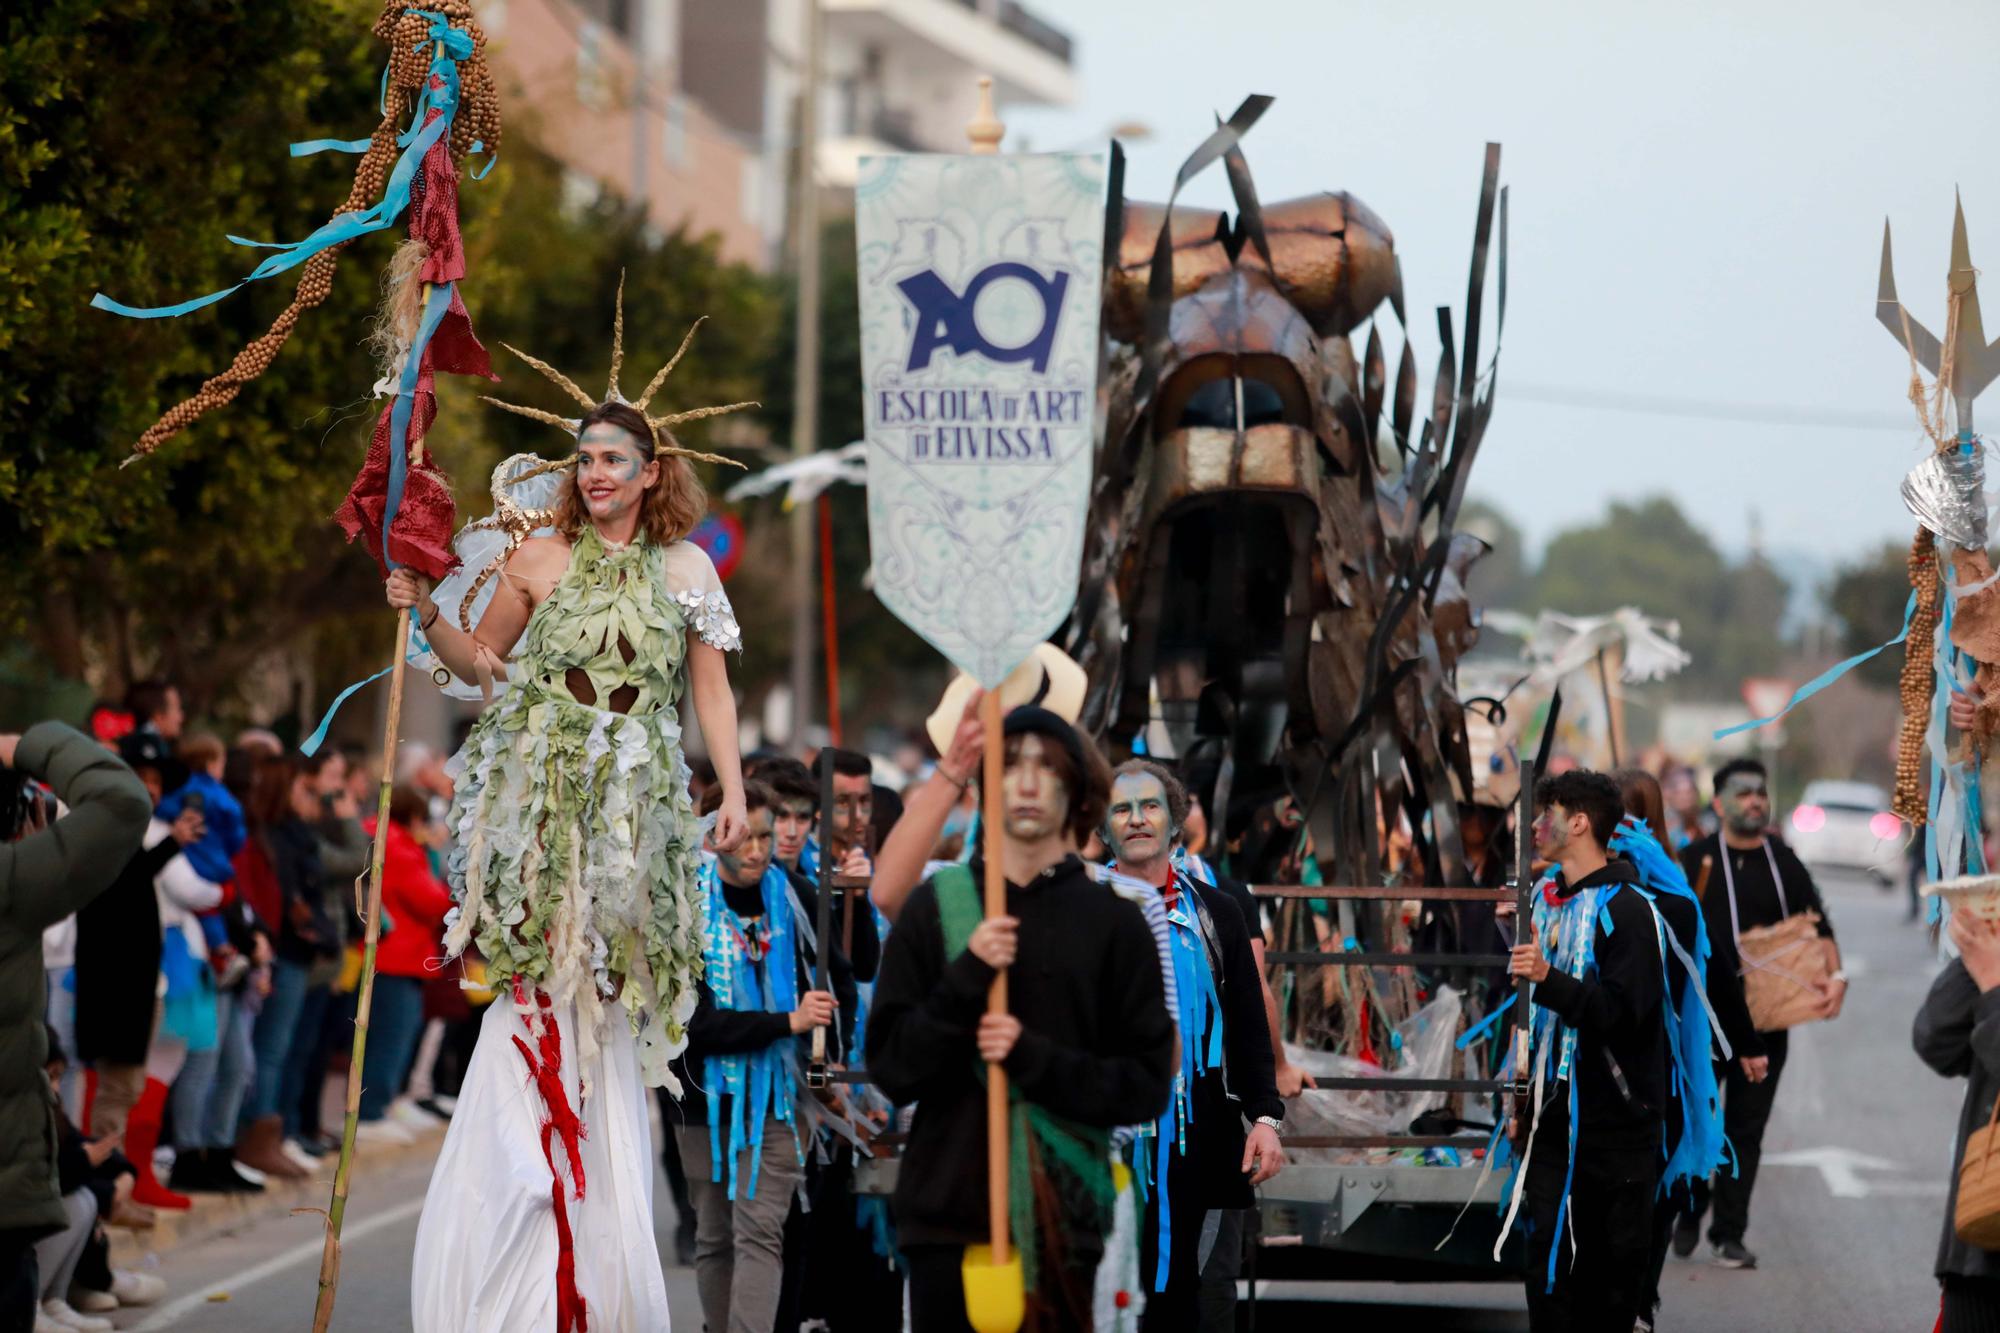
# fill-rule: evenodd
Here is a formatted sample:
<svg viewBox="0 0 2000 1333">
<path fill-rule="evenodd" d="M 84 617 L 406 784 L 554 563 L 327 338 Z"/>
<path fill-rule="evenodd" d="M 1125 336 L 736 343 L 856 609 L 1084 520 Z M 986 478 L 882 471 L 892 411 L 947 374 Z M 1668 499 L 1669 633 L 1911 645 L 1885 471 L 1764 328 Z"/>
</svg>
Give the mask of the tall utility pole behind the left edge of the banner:
<svg viewBox="0 0 2000 1333">
<path fill-rule="evenodd" d="M 792 358 L 792 454 L 820 446 L 820 0 L 806 0 L 804 86 L 798 92 L 792 256 L 798 264 L 798 316 Z M 806 739 L 812 717 L 812 560 L 814 506 L 792 510 L 792 737 Z"/>
</svg>

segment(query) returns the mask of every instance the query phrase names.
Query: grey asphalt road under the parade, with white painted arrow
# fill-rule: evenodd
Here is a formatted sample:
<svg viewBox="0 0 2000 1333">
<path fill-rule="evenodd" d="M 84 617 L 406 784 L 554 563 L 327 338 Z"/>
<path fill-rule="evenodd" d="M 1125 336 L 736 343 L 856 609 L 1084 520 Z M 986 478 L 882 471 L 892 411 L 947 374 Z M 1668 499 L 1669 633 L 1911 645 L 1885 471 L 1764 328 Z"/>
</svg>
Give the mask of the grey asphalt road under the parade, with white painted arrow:
<svg viewBox="0 0 2000 1333">
<path fill-rule="evenodd" d="M 1936 971 L 1900 893 L 1866 881 L 1822 885 L 1852 977 L 1838 1023 L 1794 1033 L 1764 1145 L 1748 1245 L 1756 1271 L 1668 1261 L 1660 1329 L 1840 1333 L 1928 1329 L 1936 1319 L 1930 1263 L 1952 1167 L 1960 1083 L 1910 1053 L 1910 1019 Z M 410 1251 L 428 1179 L 358 1173 L 336 1329 L 410 1327 Z M 672 1255 L 672 1207 L 658 1183 L 660 1251 Z M 320 1261 L 316 1217 L 272 1219 L 170 1255 L 174 1293 L 128 1311 L 120 1329 L 268 1333 L 310 1323 Z M 700 1329 L 688 1269 L 668 1269 L 674 1323 Z M 226 1299 L 210 1299 L 224 1295 Z M 1330 1323 L 1332 1321 L 1332 1323 Z M 1260 1293 L 1258 1329 L 1526 1329 L 1520 1289 L 1494 1285 L 1286 1285 Z"/>
</svg>

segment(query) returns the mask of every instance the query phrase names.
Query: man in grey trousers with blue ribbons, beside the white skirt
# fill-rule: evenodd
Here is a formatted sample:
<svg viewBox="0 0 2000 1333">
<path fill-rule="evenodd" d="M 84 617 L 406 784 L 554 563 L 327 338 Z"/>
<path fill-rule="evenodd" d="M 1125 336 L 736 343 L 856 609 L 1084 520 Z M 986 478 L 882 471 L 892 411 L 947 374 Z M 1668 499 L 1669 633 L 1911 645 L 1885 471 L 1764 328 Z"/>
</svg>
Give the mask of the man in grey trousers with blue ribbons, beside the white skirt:
<svg viewBox="0 0 2000 1333">
<path fill-rule="evenodd" d="M 704 813 L 720 805 L 710 793 Z M 698 1003 L 676 1063 L 680 1161 L 694 1203 L 694 1283 L 722 1333 L 764 1333 L 778 1313 L 786 1217 L 812 1127 L 788 1049 L 826 1027 L 838 1057 L 854 979 L 832 951 L 832 991 L 814 991 L 812 885 L 772 859 L 772 793 L 744 783 L 748 833 L 702 867 L 706 909 Z M 838 997 L 838 1005 L 836 1005 Z"/>
</svg>

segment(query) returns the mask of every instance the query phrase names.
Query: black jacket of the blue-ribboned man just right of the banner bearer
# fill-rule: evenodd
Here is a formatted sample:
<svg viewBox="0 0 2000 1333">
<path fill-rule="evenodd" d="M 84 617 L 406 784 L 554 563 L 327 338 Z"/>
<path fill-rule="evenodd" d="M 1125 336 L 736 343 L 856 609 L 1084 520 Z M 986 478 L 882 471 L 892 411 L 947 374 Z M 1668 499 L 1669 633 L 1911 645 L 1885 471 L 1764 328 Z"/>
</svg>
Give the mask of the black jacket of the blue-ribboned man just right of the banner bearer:
<svg viewBox="0 0 2000 1333">
<path fill-rule="evenodd" d="M 1284 1119 L 1278 1097 L 1276 1055 L 1264 1015 L 1250 929 L 1230 887 L 1196 881 L 1196 895 L 1214 927 L 1222 967 L 1216 993 L 1222 999 L 1222 1069 L 1210 1069 L 1194 1083 L 1194 1123 L 1188 1125 L 1188 1153 L 1200 1179 L 1202 1205 L 1246 1209 L 1256 1199 L 1242 1173 L 1246 1121 L 1260 1115 Z M 1248 897 L 1248 891 L 1236 887 Z M 1206 1039 L 1206 1033 L 1202 1035 Z M 1192 1037 L 1188 1037 L 1192 1041 Z"/>
</svg>

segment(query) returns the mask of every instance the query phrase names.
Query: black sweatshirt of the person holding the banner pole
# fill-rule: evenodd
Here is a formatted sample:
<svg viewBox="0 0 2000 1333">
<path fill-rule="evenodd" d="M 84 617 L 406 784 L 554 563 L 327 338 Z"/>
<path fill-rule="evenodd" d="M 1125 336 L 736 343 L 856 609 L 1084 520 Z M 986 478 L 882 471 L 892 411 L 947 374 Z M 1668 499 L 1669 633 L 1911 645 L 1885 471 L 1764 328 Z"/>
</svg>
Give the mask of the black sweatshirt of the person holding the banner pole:
<svg viewBox="0 0 2000 1333">
<path fill-rule="evenodd" d="M 1008 1009 L 1022 1035 L 1002 1065 L 1012 1087 L 1084 1125 L 1156 1119 L 1174 1087 L 1174 1021 L 1138 907 L 1076 857 L 1008 885 L 1006 905 L 1020 921 Z M 970 949 L 944 961 L 936 885 L 918 885 L 882 951 L 868 1017 L 868 1073 L 890 1099 L 916 1103 L 896 1181 L 906 1245 L 986 1239 L 986 1085 L 974 1033 L 992 979 Z"/>
</svg>

